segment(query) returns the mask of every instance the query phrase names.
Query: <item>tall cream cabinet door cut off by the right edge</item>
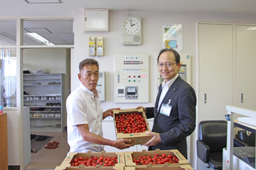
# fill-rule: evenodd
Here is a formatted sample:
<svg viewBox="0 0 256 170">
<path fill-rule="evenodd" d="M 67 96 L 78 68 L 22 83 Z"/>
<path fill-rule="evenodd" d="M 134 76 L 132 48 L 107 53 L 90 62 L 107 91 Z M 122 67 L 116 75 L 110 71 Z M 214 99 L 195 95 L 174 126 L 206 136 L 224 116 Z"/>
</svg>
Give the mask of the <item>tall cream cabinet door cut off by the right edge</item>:
<svg viewBox="0 0 256 170">
<path fill-rule="evenodd" d="M 256 25 L 237 25 L 237 106 L 256 110 Z"/>
</svg>

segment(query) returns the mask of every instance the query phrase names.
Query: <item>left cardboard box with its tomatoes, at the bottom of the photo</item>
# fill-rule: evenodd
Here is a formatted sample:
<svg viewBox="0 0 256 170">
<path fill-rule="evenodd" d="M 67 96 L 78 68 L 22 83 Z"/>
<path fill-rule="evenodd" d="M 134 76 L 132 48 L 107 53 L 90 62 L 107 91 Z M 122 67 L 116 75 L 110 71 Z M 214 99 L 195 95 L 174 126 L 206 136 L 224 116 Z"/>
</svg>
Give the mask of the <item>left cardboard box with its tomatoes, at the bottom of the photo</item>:
<svg viewBox="0 0 256 170">
<path fill-rule="evenodd" d="M 125 159 L 123 152 L 92 152 L 88 151 L 87 153 L 76 153 L 70 152 L 68 156 L 61 163 L 61 168 L 63 167 L 92 167 L 92 166 L 101 166 L 101 167 L 113 167 L 115 166 L 125 166 Z"/>
</svg>

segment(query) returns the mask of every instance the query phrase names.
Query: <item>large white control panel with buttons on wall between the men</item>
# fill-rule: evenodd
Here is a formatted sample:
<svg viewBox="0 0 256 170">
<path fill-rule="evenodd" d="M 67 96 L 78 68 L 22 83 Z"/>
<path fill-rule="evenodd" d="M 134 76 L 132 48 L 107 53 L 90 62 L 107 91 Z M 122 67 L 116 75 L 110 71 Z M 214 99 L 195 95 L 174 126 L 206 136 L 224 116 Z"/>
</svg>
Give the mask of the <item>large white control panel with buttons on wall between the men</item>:
<svg viewBox="0 0 256 170">
<path fill-rule="evenodd" d="M 115 103 L 149 103 L 149 55 L 115 55 Z"/>
</svg>

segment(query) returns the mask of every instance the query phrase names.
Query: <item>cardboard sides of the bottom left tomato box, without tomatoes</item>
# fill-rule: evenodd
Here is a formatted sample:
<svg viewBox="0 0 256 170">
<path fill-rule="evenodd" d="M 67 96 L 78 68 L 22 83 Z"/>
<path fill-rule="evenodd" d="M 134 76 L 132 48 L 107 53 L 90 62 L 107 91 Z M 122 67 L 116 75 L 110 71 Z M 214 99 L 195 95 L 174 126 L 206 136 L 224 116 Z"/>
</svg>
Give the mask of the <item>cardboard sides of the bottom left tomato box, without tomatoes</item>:
<svg viewBox="0 0 256 170">
<path fill-rule="evenodd" d="M 124 153 L 123 152 L 106 152 L 106 151 L 102 151 L 102 152 L 92 152 L 92 151 L 88 151 L 87 153 L 76 153 L 76 152 L 69 152 L 68 156 L 66 156 L 66 158 L 63 160 L 63 162 L 61 163 L 61 168 L 63 167 L 70 167 L 71 164 L 70 162 L 75 159 L 75 158 L 79 158 L 79 157 L 88 157 L 90 158 L 91 156 L 94 157 L 100 157 L 100 156 L 107 156 L 107 157 L 117 157 L 118 159 L 118 163 L 115 164 L 115 166 L 119 166 L 119 167 L 124 167 L 125 166 L 125 158 L 124 158 Z M 115 168 L 115 166 L 112 166 Z M 102 166 L 103 167 L 103 166 Z M 105 166 L 105 167 L 110 167 L 110 166 Z M 77 168 L 77 166 L 76 166 Z"/>
</svg>

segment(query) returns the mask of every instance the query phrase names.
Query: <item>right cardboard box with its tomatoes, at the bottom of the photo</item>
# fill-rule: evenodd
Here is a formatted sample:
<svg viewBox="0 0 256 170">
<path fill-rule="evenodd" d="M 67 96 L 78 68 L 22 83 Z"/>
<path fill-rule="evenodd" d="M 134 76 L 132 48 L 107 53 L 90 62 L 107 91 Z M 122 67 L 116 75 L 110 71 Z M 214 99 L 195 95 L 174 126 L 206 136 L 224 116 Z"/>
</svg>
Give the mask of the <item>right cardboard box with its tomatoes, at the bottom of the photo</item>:
<svg viewBox="0 0 256 170">
<path fill-rule="evenodd" d="M 156 151 L 125 151 L 125 166 L 180 166 L 190 164 L 177 149 Z"/>
</svg>

